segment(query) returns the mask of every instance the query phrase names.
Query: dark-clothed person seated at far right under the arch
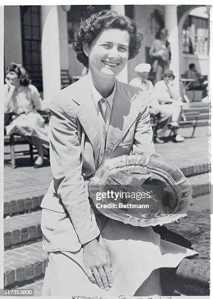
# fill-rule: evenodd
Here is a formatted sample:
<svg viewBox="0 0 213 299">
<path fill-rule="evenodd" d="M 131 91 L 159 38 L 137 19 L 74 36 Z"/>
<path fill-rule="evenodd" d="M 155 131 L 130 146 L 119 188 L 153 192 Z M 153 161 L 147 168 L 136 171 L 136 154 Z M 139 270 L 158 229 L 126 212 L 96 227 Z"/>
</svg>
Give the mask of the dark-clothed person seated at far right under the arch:
<svg viewBox="0 0 213 299">
<path fill-rule="evenodd" d="M 198 73 L 195 64 L 189 64 L 189 69 L 186 71 L 185 76 L 195 80 L 186 86 L 187 90 L 203 90 L 203 97 L 207 96 L 207 76 L 202 76 Z"/>
</svg>

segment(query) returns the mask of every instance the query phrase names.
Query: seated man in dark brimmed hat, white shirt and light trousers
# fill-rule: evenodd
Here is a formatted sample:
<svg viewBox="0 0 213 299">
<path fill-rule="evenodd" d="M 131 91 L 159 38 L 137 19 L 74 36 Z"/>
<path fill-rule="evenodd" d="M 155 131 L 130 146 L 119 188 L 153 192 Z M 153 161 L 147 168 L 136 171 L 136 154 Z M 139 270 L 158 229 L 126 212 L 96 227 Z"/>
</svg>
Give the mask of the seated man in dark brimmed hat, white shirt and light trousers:
<svg viewBox="0 0 213 299">
<path fill-rule="evenodd" d="M 163 80 L 158 81 L 154 86 L 154 97 L 157 98 L 160 104 L 159 109 L 161 113 L 166 112 L 171 114 L 170 127 L 174 129 L 173 141 L 182 142 L 184 141 L 184 137 L 177 133 L 177 129 L 180 128 L 178 120 L 181 115 L 183 102 L 178 86 L 173 83 L 174 78 L 173 71 L 166 69 Z"/>
</svg>

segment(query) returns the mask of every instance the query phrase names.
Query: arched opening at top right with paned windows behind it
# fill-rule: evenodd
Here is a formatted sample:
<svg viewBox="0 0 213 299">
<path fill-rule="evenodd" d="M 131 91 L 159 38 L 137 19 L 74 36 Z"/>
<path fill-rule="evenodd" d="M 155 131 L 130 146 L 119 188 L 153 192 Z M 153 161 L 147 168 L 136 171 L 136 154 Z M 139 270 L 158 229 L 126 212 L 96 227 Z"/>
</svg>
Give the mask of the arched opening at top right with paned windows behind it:
<svg viewBox="0 0 213 299">
<path fill-rule="evenodd" d="M 209 5 L 180 5 L 178 19 L 180 74 L 194 63 L 202 75 L 208 75 Z"/>
</svg>

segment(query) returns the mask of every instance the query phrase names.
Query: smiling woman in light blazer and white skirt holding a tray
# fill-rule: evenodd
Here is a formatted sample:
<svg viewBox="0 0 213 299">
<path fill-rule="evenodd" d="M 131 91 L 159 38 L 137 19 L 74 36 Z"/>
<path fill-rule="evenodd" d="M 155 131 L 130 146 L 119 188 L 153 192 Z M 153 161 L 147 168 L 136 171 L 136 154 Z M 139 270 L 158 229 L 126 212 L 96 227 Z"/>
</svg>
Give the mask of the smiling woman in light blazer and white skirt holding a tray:
<svg viewBox="0 0 213 299">
<path fill-rule="evenodd" d="M 41 204 L 48 252 L 43 296 L 161 295 L 159 268 L 194 254 L 161 241 L 151 227 L 96 215 L 90 200 L 89 180 L 106 160 L 156 155 L 140 88 L 116 80 L 141 42 L 135 22 L 112 11 L 81 21 L 75 34 L 73 49 L 87 73 L 50 104 L 53 181 Z"/>
</svg>

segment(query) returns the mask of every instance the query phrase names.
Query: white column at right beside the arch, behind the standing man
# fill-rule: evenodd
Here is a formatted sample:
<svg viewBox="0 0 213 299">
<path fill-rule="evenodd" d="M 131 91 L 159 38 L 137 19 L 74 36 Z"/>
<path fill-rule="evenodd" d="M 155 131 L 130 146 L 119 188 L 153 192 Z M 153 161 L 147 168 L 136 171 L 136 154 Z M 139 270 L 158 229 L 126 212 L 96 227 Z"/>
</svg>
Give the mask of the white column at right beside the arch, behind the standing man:
<svg viewBox="0 0 213 299">
<path fill-rule="evenodd" d="M 175 82 L 179 86 L 179 40 L 177 5 L 165 5 L 165 28 L 168 30 L 168 42 L 171 47 L 171 64 L 169 68 L 173 70 Z"/>
</svg>

